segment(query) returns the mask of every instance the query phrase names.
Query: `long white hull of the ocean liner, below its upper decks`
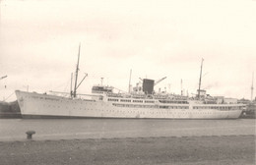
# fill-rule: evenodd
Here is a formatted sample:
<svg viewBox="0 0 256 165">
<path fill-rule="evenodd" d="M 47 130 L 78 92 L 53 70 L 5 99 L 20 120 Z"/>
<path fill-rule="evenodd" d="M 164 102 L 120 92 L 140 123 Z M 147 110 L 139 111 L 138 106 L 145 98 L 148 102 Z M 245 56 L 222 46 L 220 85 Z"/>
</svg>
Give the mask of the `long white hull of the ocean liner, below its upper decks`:
<svg viewBox="0 0 256 165">
<path fill-rule="evenodd" d="M 232 108 L 226 110 L 207 108 L 211 107 L 211 104 L 205 104 L 205 109 L 194 109 L 193 106 L 197 106 L 195 104 L 183 104 L 188 106 L 187 109 L 168 109 L 159 108 L 166 105 L 163 103 L 149 104 L 150 108 L 145 108 L 139 104 L 131 107 L 129 104 L 116 106 L 116 103 L 106 100 L 73 99 L 19 90 L 16 91 L 16 95 L 24 118 L 236 119 L 242 112 L 239 107 L 241 105 L 238 104 L 229 105 Z"/>
</svg>

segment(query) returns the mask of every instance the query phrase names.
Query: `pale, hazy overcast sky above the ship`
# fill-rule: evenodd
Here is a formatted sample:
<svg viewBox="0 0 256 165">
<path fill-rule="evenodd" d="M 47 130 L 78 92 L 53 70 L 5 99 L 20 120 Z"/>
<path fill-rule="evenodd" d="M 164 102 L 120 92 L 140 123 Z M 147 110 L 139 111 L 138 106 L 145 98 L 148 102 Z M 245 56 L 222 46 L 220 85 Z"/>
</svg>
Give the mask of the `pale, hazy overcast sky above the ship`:
<svg viewBox="0 0 256 165">
<path fill-rule="evenodd" d="M 17 89 L 69 92 L 79 44 L 79 82 L 88 74 L 79 93 L 101 78 L 128 91 L 132 70 L 133 86 L 167 77 L 155 90 L 191 96 L 204 59 L 207 93 L 251 98 L 255 0 L 2 0 L 0 7 L 0 77 L 8 76 L 0 100 L 15 100 Z"/>
</svg>

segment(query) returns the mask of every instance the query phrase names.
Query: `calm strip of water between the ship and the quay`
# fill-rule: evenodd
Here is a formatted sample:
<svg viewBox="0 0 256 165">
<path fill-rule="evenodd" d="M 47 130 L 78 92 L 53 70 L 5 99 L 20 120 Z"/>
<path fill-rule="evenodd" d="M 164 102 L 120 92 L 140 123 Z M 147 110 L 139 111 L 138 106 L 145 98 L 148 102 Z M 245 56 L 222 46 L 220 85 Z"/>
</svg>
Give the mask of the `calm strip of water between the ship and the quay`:
<svg viewBox="0 0 256 165">
<path fill-rule="evenodd" d="M 0 119 L 0 141 L 72 138 L 148 138 L 255 135 L 255 119 Z"/>
</svg>

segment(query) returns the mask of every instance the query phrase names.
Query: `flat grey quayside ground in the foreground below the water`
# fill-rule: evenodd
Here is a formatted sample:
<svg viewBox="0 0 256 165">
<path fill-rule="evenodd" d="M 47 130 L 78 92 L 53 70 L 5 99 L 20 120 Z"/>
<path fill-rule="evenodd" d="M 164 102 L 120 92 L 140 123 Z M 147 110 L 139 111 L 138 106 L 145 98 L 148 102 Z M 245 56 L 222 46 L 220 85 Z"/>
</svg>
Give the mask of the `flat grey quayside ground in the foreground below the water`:
<svg viewBox="0 0 256 165">
<path fill-rule="evenodd" d="M 3 164 L 255 164 L 255 135 L 1 141 Z"/>
</svg>

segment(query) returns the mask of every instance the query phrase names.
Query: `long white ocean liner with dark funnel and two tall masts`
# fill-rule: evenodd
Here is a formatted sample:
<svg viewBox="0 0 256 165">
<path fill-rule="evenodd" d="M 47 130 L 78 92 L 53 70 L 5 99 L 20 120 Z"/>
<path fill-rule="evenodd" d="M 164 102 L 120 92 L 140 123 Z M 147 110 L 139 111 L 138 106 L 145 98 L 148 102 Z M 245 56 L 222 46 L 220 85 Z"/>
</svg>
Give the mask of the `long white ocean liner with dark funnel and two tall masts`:
<svg viewBox="0 0 256 165">
<path fill-rule="evenodd" d="M 195 98 L 156 93 L 156 83 L 149 79 L 142 80 L 142 86 L 137 85 L 127 93 L 113 92 L 114 87 L 98 84 L 93 86 L 92 94 L 78 94 L 77 88 L 83 82 L 77 85 L 79 58 L 80 53 L 74 90 L 68 96 L 16 90 L 23 118 L 236 119 L 244 107 L 243 104 L 218 102 L 202 94 L 203 61 Z"/>
</svg>

